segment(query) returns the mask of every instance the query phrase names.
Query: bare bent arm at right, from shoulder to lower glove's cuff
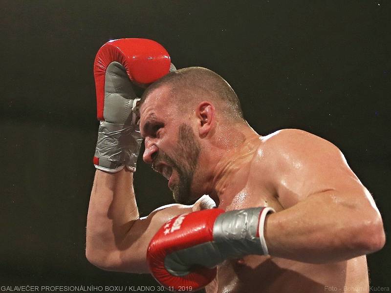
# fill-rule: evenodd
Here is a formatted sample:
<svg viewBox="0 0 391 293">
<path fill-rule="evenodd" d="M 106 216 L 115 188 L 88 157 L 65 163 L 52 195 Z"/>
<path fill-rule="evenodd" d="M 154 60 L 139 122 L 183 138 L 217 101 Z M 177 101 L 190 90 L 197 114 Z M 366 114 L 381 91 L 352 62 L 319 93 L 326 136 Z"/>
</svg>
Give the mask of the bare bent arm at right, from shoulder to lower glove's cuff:
<svg viewBox="0 0 391 293">
<path fill-rule="evenodd" d="M 270 255 L 325 263 L 384 246 L 373 198 L 336 146 L 293 129 L 282 130 L 267 144 L 278 153 L 272 172 L 284 208 L 266 219 Z"/>
</svg>

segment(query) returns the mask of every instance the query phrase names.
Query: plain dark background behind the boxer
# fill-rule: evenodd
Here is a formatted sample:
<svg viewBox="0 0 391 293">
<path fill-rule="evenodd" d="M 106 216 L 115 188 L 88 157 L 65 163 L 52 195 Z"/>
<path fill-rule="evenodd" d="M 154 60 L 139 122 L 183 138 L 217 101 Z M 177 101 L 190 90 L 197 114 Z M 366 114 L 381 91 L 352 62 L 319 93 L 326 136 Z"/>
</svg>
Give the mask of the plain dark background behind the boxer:
<svg viewBox="0 0 391 293">
<path fill-rule="evenodd" d="M 98 126 L 92 64 L 103 43 L 125 37 L 160 42 L 178 68 L 216 71 L 258 133 L 301 128 L 339 146 L 389 230 L 390 6 L 1 1 L 0 285 L 156 285 L 85 258 Z M 172 202 L 166 180 L 141 160 L 135 188 L 142 215 Z M 369 255 L 372 285 L 390 286 L 390 260 L 388 244 Z"/>
</svg>

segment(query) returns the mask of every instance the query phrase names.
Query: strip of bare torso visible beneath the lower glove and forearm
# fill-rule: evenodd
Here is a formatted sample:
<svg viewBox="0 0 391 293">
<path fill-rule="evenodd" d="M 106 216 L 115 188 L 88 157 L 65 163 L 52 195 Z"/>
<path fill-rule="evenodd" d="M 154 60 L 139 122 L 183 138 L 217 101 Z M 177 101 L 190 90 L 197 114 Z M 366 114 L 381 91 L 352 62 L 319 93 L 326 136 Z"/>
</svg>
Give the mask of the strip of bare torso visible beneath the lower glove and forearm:
<svg viewBox="0 0 391 293">
<path fill-rule="evenodd" d="M 217 267 L 207 293 L 368 293 L 365 257 L 330 264 L 306 264 L 270 256 L 248 255 Z"/>
</svg>

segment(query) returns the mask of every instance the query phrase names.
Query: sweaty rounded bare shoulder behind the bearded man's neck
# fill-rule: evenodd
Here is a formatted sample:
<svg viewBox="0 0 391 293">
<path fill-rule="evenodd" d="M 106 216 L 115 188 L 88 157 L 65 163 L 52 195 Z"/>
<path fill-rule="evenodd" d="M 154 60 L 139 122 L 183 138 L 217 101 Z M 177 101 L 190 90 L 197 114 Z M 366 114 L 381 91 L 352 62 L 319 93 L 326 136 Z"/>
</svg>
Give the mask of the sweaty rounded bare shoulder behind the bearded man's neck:
<svg viewBox="0 0 391 293">
<path fill-rule="evenodd" d="M 285 208 L 354 176 L 338 147 L 299 129 L 262 137 L 258 161 Z"/>
</svg>

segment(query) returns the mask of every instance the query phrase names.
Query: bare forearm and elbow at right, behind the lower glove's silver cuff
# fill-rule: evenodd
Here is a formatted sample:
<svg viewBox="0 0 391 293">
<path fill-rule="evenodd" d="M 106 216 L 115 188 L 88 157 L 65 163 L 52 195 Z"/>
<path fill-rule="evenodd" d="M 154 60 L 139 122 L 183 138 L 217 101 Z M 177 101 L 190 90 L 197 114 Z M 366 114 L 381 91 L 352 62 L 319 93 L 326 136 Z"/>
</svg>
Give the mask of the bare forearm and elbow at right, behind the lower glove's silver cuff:
<svg viewBox="0 0 391 293">
<path fill-rule="evenodd" d="M 383 225 L 370 205 L 337 203 L 332 191 L 314 195 L 265 221 L 269 254 L 309 263 L 347 260 L 384 245 Z"/>
</svg>

